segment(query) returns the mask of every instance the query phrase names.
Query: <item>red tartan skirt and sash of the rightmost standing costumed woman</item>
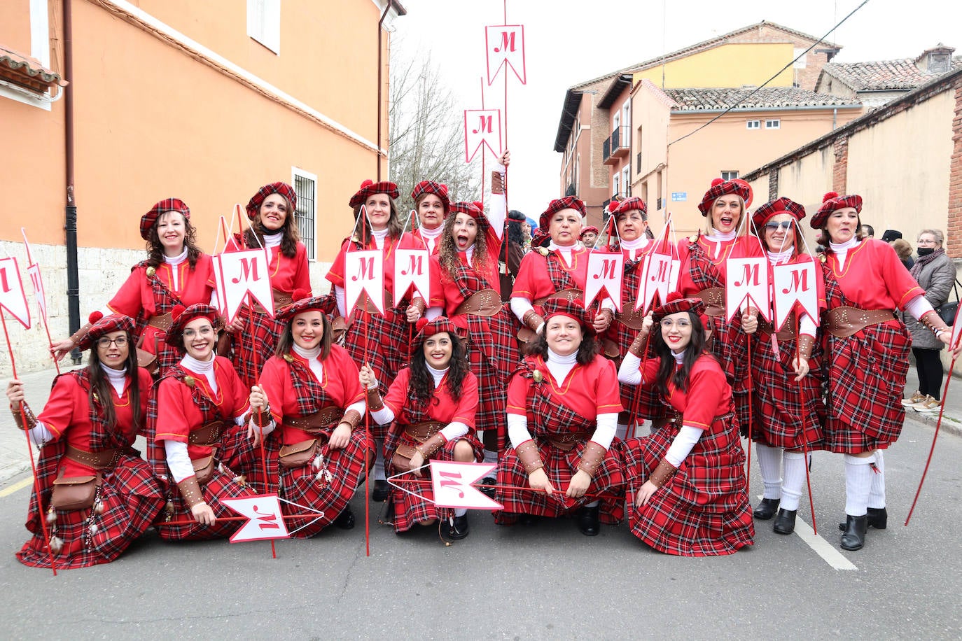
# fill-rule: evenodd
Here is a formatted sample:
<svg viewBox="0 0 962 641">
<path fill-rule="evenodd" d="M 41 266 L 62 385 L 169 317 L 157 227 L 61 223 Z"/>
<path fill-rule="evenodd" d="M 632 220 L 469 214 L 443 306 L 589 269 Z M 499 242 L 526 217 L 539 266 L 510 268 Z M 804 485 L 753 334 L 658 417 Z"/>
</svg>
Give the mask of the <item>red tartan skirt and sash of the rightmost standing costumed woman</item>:
<svg viewBox="0 0 962 641">
<path fill-rule="evenodd" d="M 823 265 L 828 308 L 852 305 Z M 902 387 L 908 374 L 912 339 L 896 318 L 848 338 L 825 333 L 823 377 L 827 381 L 825 449 L 857 454 L 884 448 L 899 439 L 905 408 Z"/>
</svg>

